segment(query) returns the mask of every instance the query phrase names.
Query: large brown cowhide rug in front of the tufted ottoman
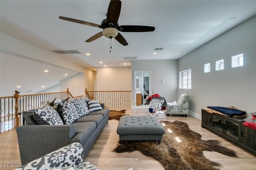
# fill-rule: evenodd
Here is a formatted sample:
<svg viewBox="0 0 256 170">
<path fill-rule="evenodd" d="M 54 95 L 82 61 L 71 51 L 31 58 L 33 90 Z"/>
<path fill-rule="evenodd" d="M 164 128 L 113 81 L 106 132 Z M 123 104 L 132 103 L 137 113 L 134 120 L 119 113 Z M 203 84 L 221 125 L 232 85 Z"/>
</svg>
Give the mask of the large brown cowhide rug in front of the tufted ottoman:
<svg viewBox="0 0 256 170">
<path fill-rule="evenodd" d="M 139 150 L 147 156 L 158 160 L 166 170 L 218 170 L 221 166 L 204 157 L 203 151 L 215 151 L 237 157 L 236 152 L 220 145 L 218 140 L 202 140 L 201 135 L 181 121 L 160 121 L 165 134 L 162 142 L 126 141 L 120 142 L 115 152 L 133 152 Z"/>
</svg>

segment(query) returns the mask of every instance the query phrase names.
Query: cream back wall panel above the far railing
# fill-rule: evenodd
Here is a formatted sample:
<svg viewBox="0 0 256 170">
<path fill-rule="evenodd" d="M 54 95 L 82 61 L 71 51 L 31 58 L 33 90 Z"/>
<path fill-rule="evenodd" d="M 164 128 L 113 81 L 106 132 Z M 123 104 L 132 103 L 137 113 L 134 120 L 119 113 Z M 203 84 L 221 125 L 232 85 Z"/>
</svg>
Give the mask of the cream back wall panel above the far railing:
<svg viewBox="0 0 256 170">
<path fill-rule="evenodd" d="M 131 67 L 98 67 L 97 91 L 130 91 Z"/>
</svg>

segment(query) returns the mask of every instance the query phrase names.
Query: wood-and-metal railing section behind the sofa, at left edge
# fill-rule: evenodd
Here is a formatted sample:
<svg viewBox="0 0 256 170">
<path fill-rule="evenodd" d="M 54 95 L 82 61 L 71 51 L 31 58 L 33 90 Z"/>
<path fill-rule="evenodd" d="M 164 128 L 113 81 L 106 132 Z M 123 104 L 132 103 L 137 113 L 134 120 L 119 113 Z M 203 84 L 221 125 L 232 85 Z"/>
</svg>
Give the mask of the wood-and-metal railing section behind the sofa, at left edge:
<svg viewBox="0 0 256 170">
<path fill-rule="evenodd" d="M 21 125 L 20 116 L 22 111 L 40 107 L 40 103 L 45 100 L 54 99 L 55 97 L 64 100 L 70 97 L 69 100 L 72 101 L 83 97 L 83 95 L 74 97 L 69 89 L 56 93 L 32 95 L 19 95 L 19 93 L 20 92 L 16 90 L 13 96 L 0 97 L 0 134 L 19 127 Z M 12 122 L 10 123 L 10 121 Z"/>
</svg>

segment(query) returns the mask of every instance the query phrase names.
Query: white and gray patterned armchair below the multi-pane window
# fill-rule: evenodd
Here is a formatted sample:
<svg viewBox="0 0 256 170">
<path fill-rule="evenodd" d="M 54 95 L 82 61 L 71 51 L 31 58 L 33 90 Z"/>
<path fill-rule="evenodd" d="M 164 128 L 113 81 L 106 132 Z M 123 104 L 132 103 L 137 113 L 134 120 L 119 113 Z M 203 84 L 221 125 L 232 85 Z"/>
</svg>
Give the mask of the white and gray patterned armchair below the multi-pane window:
<svg viewBox="0 0 256 170">
<path fill-rule="evenodd" d="M 170 114 L 176 115 L 184 115 L 187 117 L 188 115 L 188 95 L 183 94 L 180 96 L 177 103 L 167 103 L 166 107 L 166 115 L 169 116 Z"/>
</svg>

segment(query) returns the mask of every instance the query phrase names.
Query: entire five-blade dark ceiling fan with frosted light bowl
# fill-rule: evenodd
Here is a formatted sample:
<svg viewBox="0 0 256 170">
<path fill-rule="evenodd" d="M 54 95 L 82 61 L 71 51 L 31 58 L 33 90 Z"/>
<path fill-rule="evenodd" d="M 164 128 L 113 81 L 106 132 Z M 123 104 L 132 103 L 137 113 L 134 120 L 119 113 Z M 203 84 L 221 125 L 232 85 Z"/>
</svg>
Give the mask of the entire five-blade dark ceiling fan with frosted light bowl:
<svg viewBox="0 0 256 170">
<path fill-rule="evenodd" d="M 118 32 L 152 32 L 155 30 L 154 27 L 151 26 L 119 26 L 118 24 L 118 18 L 120 16 L 121 11 L 121 1 L 120 0 L 110 0 L 109 6 L 108 6 L 108 12 L 106 14 L 107 18 L 102 20 L 101 25 L 76 20 L 72 18 L 66 18 L 63 16 L 60 16 L 59 18 L 61 20 L 66 20 L 70 22 L 76 22 L 78 24 L 84 24 L 87 26 L 93 26 L 102 28 L 103 30 L 99 32 L 98 34 L 95 34 L 85 42 L 92 42 L 101 36 L 105 36 L 107 38 L 115 38 L 119 43 L 122 45 L 128 45 L 124 37 Z"/>
</svg>

